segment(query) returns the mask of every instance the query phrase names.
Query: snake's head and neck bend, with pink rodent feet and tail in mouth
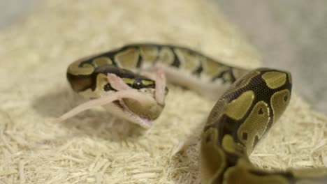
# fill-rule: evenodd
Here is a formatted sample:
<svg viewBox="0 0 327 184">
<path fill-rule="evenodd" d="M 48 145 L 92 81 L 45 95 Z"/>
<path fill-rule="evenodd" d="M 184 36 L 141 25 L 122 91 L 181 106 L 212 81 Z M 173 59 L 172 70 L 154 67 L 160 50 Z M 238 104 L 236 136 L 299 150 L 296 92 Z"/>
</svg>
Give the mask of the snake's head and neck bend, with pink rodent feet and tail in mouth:
<svg viewBox="0 0 327 184">
<path fill-rule="evenodd" d="M 68 73 L 68 82 L 74 91 L 92 100 L 71 109 L 57 121 L 102 106 L 111 114 L 150 128 L 152 121 L 161 114 L 168 93 L 163 70 L 156 71 L 156 79 L 110 65 L 95 68 L 88 77 Z"/>
</svg>

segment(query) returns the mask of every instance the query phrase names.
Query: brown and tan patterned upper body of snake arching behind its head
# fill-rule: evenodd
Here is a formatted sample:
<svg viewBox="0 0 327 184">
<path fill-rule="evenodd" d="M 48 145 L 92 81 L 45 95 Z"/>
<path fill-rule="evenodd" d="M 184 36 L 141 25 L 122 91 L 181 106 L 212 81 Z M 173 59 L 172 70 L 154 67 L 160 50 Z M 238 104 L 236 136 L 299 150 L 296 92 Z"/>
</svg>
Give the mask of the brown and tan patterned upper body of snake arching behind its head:
<svg viewBox="0 0 327 184">
<path fill-rule="evenodd" d="M 99 93 L 94 96 L 99 97 L 100 93 L 113 90 L 110 84 L 105 82 L 108 73 L 114 73 L 126 79 L 126 81 L 129 79 L 130 84 L 133 83 L 134 79 L 138 80 L 138 84 L 142 83 L 142 81 L 150 84 L 141 84 L 139 85 L 140 88 L 153 87 L 154 81 L 137 75 L 130 70 L 154 66 L 157 63 L 162 66 L 187 71 L 194 77 L 207 77 L 210 82 L 221 80 L 221 82 L 227 84 L 233 83 L 236 78 L 240 77 L 239 75 L 246 72 L 241 68 L 226 66 L 203 56 L 199 52 L 184 47 L 138 44 L 126 45 L 120 49 L 75 61 L 68 67 L 67 78 L 74 91 L 78 93 L 87 90 L 94 91 L 93 93 Z M 96 89 L 103 90 L 96 91 Z"/>
</svg>

